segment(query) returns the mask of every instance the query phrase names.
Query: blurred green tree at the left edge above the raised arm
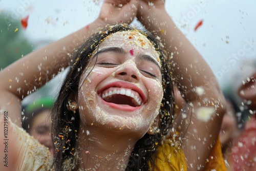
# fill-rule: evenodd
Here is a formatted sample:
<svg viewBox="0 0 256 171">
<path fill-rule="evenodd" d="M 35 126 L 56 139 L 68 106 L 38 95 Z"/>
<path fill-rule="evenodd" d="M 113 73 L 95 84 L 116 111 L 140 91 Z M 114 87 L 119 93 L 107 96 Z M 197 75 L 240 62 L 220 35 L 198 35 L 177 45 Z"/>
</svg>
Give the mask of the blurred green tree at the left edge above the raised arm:
<svg viewBox="0 0 256 171">
<path fill-rule="evenodd" d="M 32 44 L 23 33 L 19 20 L 0 13 L 0 70 L 32 52 Z"/>
</svg>

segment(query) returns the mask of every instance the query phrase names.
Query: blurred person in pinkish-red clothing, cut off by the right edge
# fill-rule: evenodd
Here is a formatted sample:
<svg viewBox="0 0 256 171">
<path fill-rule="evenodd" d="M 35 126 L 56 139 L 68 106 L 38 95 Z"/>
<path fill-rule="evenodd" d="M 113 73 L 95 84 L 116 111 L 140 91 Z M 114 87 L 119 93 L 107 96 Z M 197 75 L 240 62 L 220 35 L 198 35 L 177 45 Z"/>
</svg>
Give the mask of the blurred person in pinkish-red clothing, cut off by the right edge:
<svg viewBox="0 0 256 171">
<path fill-rule="evenodd" d="M 232 151 L 233 170 L 256 170 L 256 65 L 238 88 L 238 95 L 243 99 L 242 104 L 249 110 L 248 122 L 243 135 Z"/>
</svg>

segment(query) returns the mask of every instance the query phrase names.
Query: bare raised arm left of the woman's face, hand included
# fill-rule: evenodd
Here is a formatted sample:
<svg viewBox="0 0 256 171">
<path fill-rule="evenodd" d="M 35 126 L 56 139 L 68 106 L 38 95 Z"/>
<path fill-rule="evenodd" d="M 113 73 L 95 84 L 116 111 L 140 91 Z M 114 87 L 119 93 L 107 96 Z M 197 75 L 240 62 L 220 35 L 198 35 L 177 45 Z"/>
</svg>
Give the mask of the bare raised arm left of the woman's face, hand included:
<svg viewBox="0 0 256 171">
<path fill-rule="evenodd" d="M 123 6 L 120 7 L 118 4 Z M 50 45 L 36 50 L 0 72 L 1 114 L 8 112 L 13 122 L 21 126 L 20 102 L 56 75 L 61 68 L 69 66 L 70 56 L 97 28 L 107 24 L 130 23 L 137 13 L 138 2 L 104 1 L 99 17 L 86 27 Z"/>
</svg>

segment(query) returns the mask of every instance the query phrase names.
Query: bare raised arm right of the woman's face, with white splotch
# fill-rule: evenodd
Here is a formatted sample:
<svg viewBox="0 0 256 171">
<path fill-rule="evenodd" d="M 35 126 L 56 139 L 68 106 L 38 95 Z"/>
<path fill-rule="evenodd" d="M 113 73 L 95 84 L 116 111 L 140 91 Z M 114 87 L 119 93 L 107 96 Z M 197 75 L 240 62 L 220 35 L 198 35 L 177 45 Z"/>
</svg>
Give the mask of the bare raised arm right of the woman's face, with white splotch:
<svg viewBox="0 0 256 171">
<path fill-rule="evenodd" d="M 225 100 L 211 69 L 167 14 L 164 1 L 140 1 L 137 18 L 150 31 L 161 37 L 174 67 L 174 78 L 191 116 L 180 123 L 185 137 L 183 145 L 189 170 L 203 170 L 215 144 Z M 184 115 L 180 115 L 180 117 Z M 182 118 L 181 118 L 182 119 Z"/>
</svg>

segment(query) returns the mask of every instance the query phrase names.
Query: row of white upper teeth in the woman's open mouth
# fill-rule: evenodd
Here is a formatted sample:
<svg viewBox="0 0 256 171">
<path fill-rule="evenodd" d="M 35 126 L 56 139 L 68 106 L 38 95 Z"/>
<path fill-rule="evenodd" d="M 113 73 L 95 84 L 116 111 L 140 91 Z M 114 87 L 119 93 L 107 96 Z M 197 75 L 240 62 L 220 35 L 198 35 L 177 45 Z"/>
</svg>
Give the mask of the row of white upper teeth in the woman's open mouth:
<svg viewBox="0 0 256 171">
<path fill-rule="evenodd" d="M 132 97 L 134 99 L 134 102 L 136 102 L 138 105 L 141 104 L 139 94 L 130 89 L 118 88 L 118 89 L 114 89 L 114 90 L 109 90 L 109 91 L 106 91 L 105 93 L 101 94 L 101 97 L 106 99 L 106 98 L 110 98 L 114 94 L 121 94 L 121 95 L 125 95 L 128 97 Z"/>
</svg>

